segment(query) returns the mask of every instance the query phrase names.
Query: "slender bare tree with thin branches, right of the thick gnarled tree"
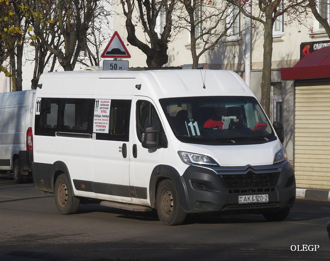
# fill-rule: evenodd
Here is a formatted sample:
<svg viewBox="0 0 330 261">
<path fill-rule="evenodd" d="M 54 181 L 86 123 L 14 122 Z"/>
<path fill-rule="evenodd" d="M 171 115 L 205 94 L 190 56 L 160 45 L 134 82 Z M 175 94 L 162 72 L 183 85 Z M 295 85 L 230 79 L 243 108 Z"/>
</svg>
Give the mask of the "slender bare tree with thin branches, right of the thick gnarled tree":
<svg viewBox="0 0 330 261">
<path fill-rule="evenodd" d="M 208 50 L 214 50 L 221 38 L 228 36 L 239 12 L 233 13 L 227 2 L 221 0 L 180 0 L 180 3 L 184 8 L 181 9 L 176 27 L 189 31 L 192 69 L 197 69 L 200 56 Z M 198 41 L 202 49 L 197 54 Z"/>
</svg>

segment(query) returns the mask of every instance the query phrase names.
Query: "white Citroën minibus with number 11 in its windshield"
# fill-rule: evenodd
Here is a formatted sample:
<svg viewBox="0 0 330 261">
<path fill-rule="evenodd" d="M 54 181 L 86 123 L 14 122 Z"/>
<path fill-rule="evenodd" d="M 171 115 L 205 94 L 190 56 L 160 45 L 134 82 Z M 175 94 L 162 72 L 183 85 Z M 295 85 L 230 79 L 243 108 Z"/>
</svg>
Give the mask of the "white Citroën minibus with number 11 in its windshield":
<svg viewBox="0 0 330 261">
<path fill-rule="evenodd" d="M 34 183 L 62 214 L 93 198 L 178 225 L 186 213 L 283 220 L 294 204 L 283 126 L 234 72 L 44 73 L 34 111 Z"/>
</svg>

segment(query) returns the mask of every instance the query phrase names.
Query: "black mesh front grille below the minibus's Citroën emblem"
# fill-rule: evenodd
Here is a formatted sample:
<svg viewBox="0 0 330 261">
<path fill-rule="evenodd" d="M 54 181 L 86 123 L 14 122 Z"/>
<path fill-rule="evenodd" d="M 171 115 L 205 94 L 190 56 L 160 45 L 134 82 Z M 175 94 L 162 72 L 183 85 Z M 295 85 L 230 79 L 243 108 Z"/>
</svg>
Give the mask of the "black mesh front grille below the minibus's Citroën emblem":
<svg viewBox="0 0 330 261">
<path fill-rule="evenodd" d="M 246 174 L 221 174 L 222 183 L 227 188 L 271 187 L 277 184 L 279 172 Z"/>
</svg>

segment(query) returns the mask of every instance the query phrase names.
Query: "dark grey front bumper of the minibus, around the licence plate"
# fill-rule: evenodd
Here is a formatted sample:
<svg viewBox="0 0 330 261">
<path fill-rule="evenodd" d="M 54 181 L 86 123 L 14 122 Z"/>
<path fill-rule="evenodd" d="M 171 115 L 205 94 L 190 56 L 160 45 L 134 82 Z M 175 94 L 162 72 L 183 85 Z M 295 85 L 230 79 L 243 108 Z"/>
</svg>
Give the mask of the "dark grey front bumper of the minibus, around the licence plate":
<svg viewBox="0 0 330 261">
<path fill-rule="evenodd" d="M 264 213 L 292 207 L 296 196 L 293 169 L 288 162 L 269 166 L 190 166 L 182 175 L 187 212 Z M 269 196 L 267 203 L 239 204 L 239 196 Z M 184 205 L 184 204 L 183 204 Z"/>
</svg>

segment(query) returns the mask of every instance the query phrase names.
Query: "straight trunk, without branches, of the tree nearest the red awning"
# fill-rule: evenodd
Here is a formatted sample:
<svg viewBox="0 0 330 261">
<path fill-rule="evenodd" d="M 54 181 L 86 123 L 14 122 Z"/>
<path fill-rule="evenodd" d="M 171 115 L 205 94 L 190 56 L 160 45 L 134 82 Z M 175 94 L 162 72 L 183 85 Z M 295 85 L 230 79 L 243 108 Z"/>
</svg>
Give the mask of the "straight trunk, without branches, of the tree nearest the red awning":
<svg viewBox="0 0 330 261">
<path fill-rule="evenodd" d="M 264 53 L 261 77 L 261 106 L 270 117 L 270 91 L 272 84 L 272 54 L 273 54 L 273 21 L 266 19 L 264 23 Z"/>
</svg>

